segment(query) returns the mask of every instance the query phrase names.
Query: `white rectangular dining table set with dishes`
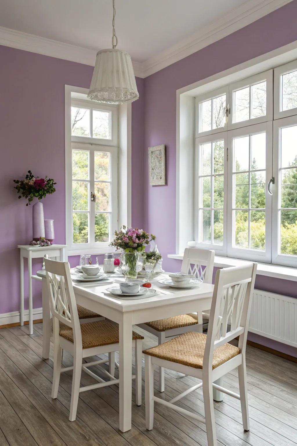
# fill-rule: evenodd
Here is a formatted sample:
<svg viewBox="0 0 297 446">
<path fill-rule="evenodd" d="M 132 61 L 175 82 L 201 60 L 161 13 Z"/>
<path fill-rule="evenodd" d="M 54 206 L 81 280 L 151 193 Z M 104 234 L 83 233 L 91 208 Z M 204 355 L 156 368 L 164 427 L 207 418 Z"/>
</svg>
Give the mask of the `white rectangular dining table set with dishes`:
<svg viewBox="0 0 297 446">
<path fill-rule="evenodd" d="M 162 277 L 167 277 L 164 273 Z M 51 314 L 47 295 L 45 270 L 37 272 L 36 279 L 42 279 L 43 339 L 44 358 L 49 358 L 49 339 L 51 335 Z M 175 289 L 161 285 L 153 279 L 152 287 L 158 293 L 153 297 L 128 300 L 108 295 L 112 283 L 83 284 L 74 283 L 73 289 L 78 305 L 101 314 L 119 325 L 119 429 L 131 429 L 132 398 L 132 327 L 157 319 L 169 318 L 180 314 L 209 310 L 212 303 L 213 285 L 201 283 L 192 289 Z M 124 281 L 124 277 L 112 275 L 111 280 Z M 220 392 L 219 392 L 220 393 Z M 216 396 L 216 400 L 222 399 Z"/>
</svg>

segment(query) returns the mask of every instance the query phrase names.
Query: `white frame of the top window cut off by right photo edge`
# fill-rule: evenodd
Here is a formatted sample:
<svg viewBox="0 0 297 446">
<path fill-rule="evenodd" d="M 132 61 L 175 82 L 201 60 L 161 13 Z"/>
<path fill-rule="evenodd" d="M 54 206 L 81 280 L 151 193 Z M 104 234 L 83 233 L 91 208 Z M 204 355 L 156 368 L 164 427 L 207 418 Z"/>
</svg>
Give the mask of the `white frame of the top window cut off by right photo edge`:
<svg viewBox="0 0 297 446">
<path fill-rule="evenodd" d="M 282 111 L 282 83 L 283 74 L 297 70 L 297 60 L 278 66 L 274 69 L 274 120 L 285 118 L 287 116 L 297 115 L 297 107 Z"/>
</svg>

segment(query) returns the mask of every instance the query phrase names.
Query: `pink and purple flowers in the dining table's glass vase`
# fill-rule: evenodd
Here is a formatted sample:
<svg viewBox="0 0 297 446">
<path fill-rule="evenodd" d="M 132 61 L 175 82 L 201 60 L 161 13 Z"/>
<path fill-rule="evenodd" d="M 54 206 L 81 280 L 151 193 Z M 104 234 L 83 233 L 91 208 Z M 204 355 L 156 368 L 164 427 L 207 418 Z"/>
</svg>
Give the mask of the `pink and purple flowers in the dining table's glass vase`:
<svg viewBox="0 0 297 446">
<path fill-rule="evenodd" d="M 143 229 L 122 226 L 119 231 L 114 231 L 114 240 L 110 246 L 121 248 L 125 252 L 143 252 L 152 240 L 156 240 L 156 236 Z"/>
</svg>

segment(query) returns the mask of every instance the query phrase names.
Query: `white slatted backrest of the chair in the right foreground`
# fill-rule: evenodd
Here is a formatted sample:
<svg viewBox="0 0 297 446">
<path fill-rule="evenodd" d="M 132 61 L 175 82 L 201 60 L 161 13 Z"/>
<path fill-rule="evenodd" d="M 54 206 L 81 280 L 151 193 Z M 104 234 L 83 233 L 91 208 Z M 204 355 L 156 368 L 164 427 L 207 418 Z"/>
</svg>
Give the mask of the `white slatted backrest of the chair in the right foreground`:
<svg viewBox="0 0 297 446">
<path fill-rule="evenodd" d="M 241 353 L 245 353 L 257 264 L 222 268 L 216 282 L 209 315 L 203 368 L 212 369 L 214 349 L 239 336 Z M 228 320 L 231 330 L 227 331 Z"/>
</svg>

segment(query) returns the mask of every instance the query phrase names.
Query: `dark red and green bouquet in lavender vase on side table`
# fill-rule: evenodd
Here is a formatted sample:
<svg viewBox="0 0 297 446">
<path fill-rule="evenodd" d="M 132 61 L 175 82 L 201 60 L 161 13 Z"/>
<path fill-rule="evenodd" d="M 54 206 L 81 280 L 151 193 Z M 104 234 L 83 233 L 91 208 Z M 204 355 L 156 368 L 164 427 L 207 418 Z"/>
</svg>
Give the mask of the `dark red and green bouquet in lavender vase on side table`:
<svg viewBox="0 0 297 446">
<path fill-rule="evenodd" d="M 54 187 L 55 183 L 53 178 L 39 178 L 34 177 L 31 170 L 28 170 L 26 178 L 24 180 L 13 180 L 16 183 L 15 189 L 17 193 L 20 194 L 18 198 L 26 198 L 28 199 L 28 206 L 34 198 L 38 198 L 40 201 L 42 198 L 45 198 L 48 194 L 53 194 L 56 192 L 56 188 Z"/>
</svg>

